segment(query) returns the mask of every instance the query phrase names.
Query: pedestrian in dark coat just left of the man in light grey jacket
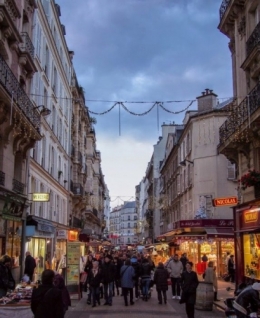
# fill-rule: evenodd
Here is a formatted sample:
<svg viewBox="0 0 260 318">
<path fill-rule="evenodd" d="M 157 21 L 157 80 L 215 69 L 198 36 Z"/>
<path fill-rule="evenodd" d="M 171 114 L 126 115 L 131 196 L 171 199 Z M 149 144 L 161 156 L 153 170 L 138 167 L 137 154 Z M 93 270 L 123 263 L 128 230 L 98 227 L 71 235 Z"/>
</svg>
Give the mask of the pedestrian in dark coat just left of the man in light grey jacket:
<svg viewBox="0 0 260 318">
<path fill-rule="evenodd" d="M 158 295 L 158 303 L 162 304 L 162 297 L 164 303 L 167 304 L 166 291 L 168 290 L 168 276 L 169 273 L 166 268 L 164 268 L 163 263 L 159 263 L 157 269 L 154 273 L 154 283 L 156 285 L 156 291 Z"/>
</svg>

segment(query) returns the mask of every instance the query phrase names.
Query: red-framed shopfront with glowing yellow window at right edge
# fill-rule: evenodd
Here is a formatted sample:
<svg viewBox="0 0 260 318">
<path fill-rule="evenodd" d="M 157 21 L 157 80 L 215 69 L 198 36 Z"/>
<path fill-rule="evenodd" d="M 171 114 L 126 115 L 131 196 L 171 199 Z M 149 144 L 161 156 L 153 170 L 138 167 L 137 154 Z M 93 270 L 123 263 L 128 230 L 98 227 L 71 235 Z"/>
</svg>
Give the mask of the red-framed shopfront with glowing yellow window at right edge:
<svg viewBox="0 0 260 318">
<path fill-rule="evenodd" d="M 260 202 L 239 205 L 233 211 L 236 282 L 260 281 Z"/>
</svg>

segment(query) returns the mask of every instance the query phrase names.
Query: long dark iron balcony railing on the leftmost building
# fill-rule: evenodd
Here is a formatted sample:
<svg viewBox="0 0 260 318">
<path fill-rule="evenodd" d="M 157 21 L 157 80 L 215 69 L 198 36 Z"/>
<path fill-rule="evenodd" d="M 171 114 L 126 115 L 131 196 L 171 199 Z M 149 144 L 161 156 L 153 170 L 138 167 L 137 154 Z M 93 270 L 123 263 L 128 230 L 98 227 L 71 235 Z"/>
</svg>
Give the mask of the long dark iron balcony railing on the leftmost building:
<svg viewBox="0 0 260 318">
<path fill-rule="evenodd" d="M 24 90 L 21 88 L 17 78 L 0 55 L 0 84 L 3 85 L 10 97 L 17 103 L 23 114 L 39 132 L 41 118 L 37 109 L 30 101 Z"/>
</svg>

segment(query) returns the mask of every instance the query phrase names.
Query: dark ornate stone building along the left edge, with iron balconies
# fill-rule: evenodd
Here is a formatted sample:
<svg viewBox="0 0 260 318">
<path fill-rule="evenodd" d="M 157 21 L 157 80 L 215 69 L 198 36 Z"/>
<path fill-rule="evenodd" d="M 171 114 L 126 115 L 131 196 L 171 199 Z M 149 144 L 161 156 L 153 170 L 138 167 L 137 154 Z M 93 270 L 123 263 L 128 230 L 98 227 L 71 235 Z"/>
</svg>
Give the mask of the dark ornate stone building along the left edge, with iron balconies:
<svg viewBox="0 0 260 318">
<path fill-rule="evenodd" d="M 0 254 L 12 257 L 20 277 L 24 261 L 29 152 L 41 140 L 41 113 L 30 99 L 37 71 L 32 43 L 34 1 L 0 3 Z"/>
</svg>

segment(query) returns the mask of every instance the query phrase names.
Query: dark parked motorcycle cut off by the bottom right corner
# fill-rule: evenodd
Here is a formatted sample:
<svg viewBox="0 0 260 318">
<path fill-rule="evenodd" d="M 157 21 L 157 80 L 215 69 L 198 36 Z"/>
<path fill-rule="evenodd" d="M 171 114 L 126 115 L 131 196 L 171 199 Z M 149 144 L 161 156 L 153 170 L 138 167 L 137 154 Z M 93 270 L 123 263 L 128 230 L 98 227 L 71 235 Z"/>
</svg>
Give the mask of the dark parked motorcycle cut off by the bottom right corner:
<svg viewBox="0 0 260 318">
<path fill-rule="evenodd" d="M 250 313 L 257 313 L 260 307 L 260 283 L 254 283 L 253 285 L 247 286 L 237 296 L 233 302 L 238 318 L 249 317 Z"/>
</svg>

